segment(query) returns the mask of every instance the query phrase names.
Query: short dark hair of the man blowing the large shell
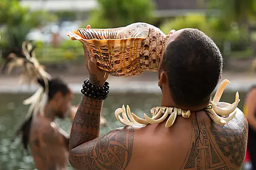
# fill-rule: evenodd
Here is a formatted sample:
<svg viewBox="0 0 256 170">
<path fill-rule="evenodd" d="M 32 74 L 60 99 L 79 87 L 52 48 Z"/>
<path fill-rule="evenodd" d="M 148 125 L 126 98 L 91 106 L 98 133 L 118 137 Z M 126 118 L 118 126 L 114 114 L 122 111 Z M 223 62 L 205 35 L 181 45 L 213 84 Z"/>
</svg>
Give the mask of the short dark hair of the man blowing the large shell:
<svg viewBox="0 0 256 170">
<path fill-rule="evenodd" d="M 220 49 L 198 29 L 184 29 L 170 42 L 161 65 L 167 73 L 174 102 L 182 106 L 209 102 L 222 67 Z"/>
</svg>

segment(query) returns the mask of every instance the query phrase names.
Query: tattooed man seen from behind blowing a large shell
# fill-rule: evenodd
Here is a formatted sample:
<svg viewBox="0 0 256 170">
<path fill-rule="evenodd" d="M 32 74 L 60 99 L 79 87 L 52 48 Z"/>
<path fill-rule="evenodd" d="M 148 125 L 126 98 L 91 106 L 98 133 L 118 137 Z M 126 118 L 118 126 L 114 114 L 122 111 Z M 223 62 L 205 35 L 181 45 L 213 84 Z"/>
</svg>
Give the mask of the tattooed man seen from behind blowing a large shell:
<svg viewBox="0 0 256 170">
<path fill-rule="evenodd" d="M 88 26 L 89 28 L 89 26 Z M 126 126 L 100 136 L 102 99 L 108 74 L 86 56 L 89 83 L 83 85 L 70 134 L 69 162 L 75 169 L 240 169 L 245 158 L 248 124 L 241 110 L 224 126 L 212 121 L 205 108 L 221 78 L 222 55 L 215 43 L 197 29 L 170 34 L 159 66 L 161 106 L 190 110 L 189 118 L 176 117 L 142 127 Z M 93 85 L 92 85 L 93 84 Z M 91 87 L 92 86 L 92 87 Z M 92 91 L 102 90 L 103 95 Z M 219 103 L 225 107 L 229 104 Z"/>
</svg>

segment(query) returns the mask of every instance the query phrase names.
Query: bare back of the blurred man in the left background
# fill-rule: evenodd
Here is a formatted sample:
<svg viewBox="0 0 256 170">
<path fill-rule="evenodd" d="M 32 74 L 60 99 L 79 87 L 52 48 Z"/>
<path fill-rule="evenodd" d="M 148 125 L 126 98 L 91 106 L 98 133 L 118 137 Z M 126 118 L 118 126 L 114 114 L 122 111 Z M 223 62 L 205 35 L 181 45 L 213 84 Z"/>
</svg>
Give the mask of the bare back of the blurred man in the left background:
<svg viewBox="0 0 256 170">
<path fill-rule="evenodd" d="M 32 122 L 31 153 L 38 170 L 66 169 L 68 158 L 67 133 L 60 132 L 57 125 L 45 117 L 38 116 Z"/>
</svg>

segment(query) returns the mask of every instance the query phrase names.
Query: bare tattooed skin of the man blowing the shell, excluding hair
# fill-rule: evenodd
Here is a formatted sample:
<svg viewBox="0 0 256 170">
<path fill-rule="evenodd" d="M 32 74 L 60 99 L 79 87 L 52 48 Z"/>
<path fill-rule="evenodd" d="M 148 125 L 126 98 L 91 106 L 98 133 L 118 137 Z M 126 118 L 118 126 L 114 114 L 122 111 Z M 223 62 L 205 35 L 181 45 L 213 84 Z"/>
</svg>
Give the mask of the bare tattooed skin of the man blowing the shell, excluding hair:
<svg viewBox="0 0 256 170">
<path fill-rule="evenodd" d="M 169 33 L 172 35 L 167 45 L 183 30 Z M 97 69 L 96 61 L 88 56 L 86 49 L 84 55 L 90 82 L 102 85 L 108 76 Z M 175 104 L 167 74 L 160 69 L 158 85 L 163 94 L 161 105 L 191 110 L 190 118 L 178 116 L 170 128 L 166 128 L 166 121 L 163 121 L 144 127 L 126 126 L 100 136 L 99 119 L 103 102 L 83 96 L 71 128 L 71 166 L 81 170 L 240 169 L 245 156 L 248 129 L 242 111 L 237 109 L 236 117 L 222 127 L 214 123 L 207 112 L 194 112 L 204 109 L 210 101 L 192 107 Z M 218 103 L 221 108 L 227 105 Z"/>
</svg>

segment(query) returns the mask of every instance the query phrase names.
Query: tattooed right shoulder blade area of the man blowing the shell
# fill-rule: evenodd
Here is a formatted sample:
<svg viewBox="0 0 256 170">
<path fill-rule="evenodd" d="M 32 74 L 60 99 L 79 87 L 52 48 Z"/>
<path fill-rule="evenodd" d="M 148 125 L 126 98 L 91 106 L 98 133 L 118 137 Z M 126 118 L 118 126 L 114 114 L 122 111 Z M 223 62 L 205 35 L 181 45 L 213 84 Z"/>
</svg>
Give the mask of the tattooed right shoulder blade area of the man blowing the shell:
<svg viewBox="0 0 256 170">
<path fill-rule="evenodd" d="M 248 122 L 243 112 L 237 108 L 236 116 L 224 126 L 211 122 L 214 136 L 222 154 L 236 167 L 241 167 L 245 158 Z"/>
</svg>

